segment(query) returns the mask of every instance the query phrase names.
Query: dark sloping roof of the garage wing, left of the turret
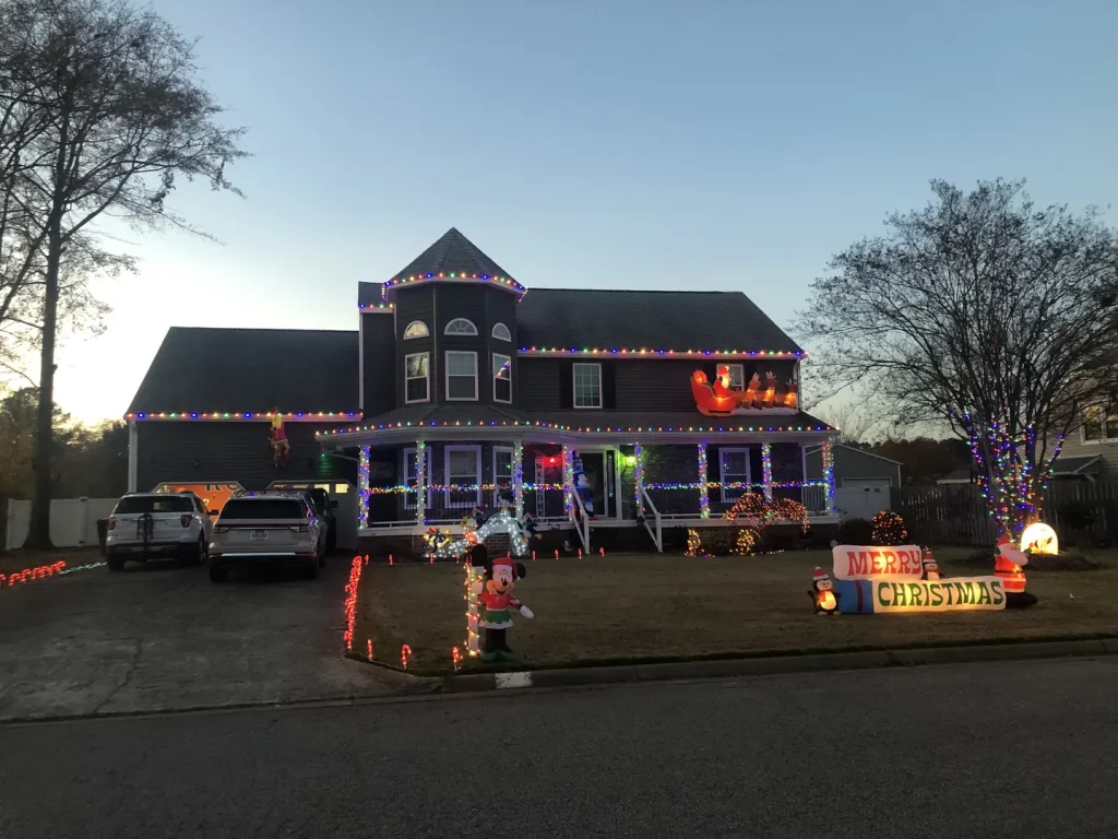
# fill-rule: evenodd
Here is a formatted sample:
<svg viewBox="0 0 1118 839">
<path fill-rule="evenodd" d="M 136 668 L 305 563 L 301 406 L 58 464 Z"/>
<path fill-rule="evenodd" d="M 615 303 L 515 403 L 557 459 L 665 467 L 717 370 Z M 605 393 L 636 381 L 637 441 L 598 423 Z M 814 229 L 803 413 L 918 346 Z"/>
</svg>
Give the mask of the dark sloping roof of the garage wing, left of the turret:
<svg viewBox="0 0 1118 839">
<path fill-rule="evenodd" d="M 129 413 L 358 411 L 358 352 L 349 331 L 171 327 Z"/>
</svg>

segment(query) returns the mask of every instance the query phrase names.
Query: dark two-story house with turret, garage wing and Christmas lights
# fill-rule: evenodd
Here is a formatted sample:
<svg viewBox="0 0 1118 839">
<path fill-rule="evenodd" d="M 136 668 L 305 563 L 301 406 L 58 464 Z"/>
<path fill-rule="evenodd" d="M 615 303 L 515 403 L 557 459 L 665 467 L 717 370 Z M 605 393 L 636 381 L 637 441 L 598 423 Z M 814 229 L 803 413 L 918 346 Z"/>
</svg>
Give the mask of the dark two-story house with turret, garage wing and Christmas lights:
<svg viewBox="0 0 1118 839">
<path fill-rule="evenodd" d="M 804 352 L 745 294 L 529 290 L 452 228 L 360 283 L 356 314 L 356 332 L 171 329 L 127 413 L 131 487 L 351 487 L 370 553 L 502 502 L 587 549 L 728 524 L 750 490 L 837 520 L 833 479 L 806 478 L 834 433 L 798 408 Z"/>
</svg>

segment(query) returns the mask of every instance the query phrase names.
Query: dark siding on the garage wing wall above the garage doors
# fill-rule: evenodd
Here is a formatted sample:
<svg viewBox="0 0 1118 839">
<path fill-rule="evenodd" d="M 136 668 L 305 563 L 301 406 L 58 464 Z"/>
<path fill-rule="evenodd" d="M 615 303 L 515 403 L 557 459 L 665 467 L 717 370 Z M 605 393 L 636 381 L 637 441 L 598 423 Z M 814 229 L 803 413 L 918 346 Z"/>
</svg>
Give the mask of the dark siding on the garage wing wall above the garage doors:
<svg viewBox="0 0 1118 839">
<path fill-rule="evenodd" d="M 348 480 L 357 483 L 357 464 L 321 456 L 315 431 L 338 423 L 287 423 L 291 459 L 272 465 L 268 425 L 253 422 L 170 422 L 136 424 L 136 489 L 162 481 L 239 481 L 245 489 L 264 489 L 275 480 Z"/>
</svg>

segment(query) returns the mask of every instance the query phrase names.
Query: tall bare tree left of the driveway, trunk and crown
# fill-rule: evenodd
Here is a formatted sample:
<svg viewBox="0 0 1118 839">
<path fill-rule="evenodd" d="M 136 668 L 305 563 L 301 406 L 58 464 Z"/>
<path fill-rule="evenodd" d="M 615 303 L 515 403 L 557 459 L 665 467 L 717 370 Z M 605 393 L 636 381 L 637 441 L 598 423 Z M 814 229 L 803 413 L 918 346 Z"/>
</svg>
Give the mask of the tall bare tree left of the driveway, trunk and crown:
<svg viewBox="0 0 1118 839">
<path fill-rule="evenodd" d="M 187 223 L 169 210 L 176 177 L 233 190 L 239 129 L 196 79 L 195 45 L 127 0 L 0 0 L 0 107 L 37 126 L 10 192 L 32 261 L 41 257 L 36 491 L 29 545 L 49 545 L 55 346 L 69 265 L 105 266 L 93 224 Z M 32 117 L 38 117 L 36 121 Z"/>
</svg>

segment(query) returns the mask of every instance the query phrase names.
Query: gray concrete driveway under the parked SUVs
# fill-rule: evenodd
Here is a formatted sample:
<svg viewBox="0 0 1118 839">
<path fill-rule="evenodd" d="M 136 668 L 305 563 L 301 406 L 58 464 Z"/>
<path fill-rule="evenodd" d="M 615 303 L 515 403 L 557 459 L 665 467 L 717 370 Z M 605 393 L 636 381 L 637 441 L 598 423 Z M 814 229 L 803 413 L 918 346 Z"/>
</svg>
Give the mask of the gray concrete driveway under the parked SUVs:
<svg viewBox="0 0 1118 839">
<path fill-rule="evenodd" d="M 391 694 L 341 656 L 348 578 L 148 563 L 0 591 L 0 720 Z"/>
</svg>

